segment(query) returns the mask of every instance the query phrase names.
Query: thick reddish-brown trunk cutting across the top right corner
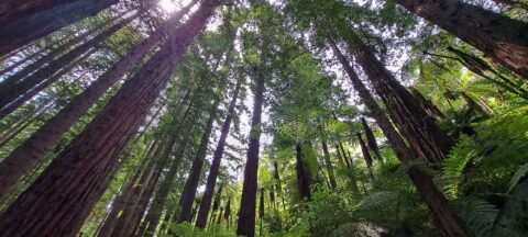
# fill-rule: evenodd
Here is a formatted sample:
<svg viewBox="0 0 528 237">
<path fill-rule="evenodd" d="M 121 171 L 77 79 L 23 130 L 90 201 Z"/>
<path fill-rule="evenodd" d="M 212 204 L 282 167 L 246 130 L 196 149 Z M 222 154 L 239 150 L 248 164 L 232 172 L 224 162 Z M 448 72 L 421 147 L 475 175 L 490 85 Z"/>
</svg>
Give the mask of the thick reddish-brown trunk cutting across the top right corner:
<svg viewBox="0 0 528 237">
<path fill-rule="evenodd" d="M 396 0 L 528 80 L 528 25 L 460 0 Z"/>
</svg>

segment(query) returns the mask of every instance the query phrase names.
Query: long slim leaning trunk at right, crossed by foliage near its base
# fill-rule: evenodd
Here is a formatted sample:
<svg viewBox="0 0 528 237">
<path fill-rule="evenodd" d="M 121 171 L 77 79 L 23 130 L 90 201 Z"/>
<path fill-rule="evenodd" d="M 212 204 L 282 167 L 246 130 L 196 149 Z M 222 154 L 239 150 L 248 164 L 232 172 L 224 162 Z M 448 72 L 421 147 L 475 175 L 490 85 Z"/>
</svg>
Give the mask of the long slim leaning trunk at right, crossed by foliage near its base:
<svg viewBox="0 0 528 237">
<path fill-rule="evenodd" d="M 398 159 L 403 163 L 409 163 L 417 158 L 425 159 L 424 157 L 418 157 L 416 153 L 407 146 L 383 110 L 376 103 L 371 92 L 366 89 L 365 84 L 360 80 L 352 66 L 350 66 L 348 59 L 339 50 L 336 43 L 330 41 L 330 46 L 349 76 L 354 90 L 358 91 L 361 100 L 370 110 L 372 116 L 374 116 L 376 120 Z M 457 219 L 448 203 L 444 202 L 446 198 L 443 198 L 443 195 L 438 191 L 430 177 L 428 177 L 427 173 L 420 169 L 409 169 L 409 177 L 417 187 L 420 196 L 425 200 L 427 206 L 435 216 L 435 219 L 441 219 L 441 222 L 436 222 L 437 226 L 450 237 L 469 236 L 462 223 Z M 451 235 L 452 233 L 457 233 L 457 235 Z"/>
</svg>

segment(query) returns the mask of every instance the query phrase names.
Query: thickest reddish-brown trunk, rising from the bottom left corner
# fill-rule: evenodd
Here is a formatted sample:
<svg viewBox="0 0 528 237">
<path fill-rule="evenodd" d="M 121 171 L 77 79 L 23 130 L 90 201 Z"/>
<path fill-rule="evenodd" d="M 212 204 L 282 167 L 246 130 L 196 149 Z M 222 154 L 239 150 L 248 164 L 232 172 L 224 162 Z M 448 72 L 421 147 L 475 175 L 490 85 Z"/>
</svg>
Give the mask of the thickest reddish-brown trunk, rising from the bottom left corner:
<svg viewBox="0 0 528 237">
<path fill-rule="evenodd" d="M 9 236 L 75 235 L 129 142 L 217 1 L 207 0 L 162 49 L 113 97 L 25 193 L 0 216 Z"/>
</svg>

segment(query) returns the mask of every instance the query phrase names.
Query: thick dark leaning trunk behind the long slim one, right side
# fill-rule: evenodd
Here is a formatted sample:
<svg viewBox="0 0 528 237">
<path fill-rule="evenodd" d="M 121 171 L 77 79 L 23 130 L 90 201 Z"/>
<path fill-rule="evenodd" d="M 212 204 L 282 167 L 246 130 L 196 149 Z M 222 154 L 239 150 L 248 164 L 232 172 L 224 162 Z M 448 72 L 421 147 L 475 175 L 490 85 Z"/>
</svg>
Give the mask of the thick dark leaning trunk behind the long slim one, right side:
<svg viewBox="0 0 528 237">
<path fill-rule="evenodd" d="M 413 148 L 430 162 L 441 162 L 453 143 L 360 38 L 350 44 L 393 122 Z"/>
</svg>

